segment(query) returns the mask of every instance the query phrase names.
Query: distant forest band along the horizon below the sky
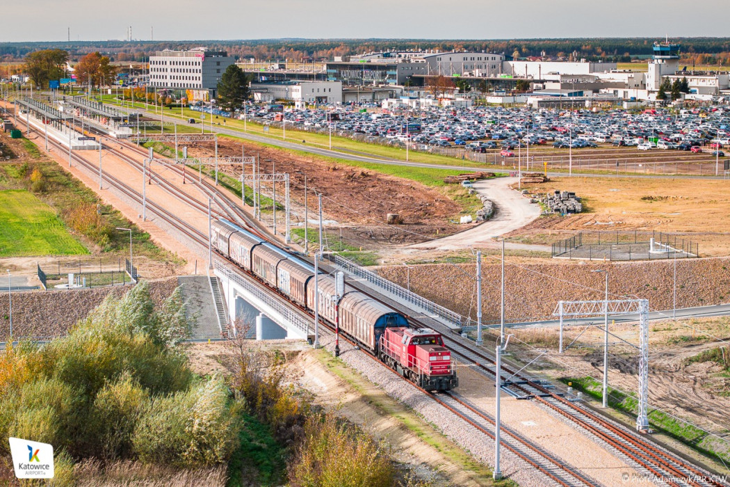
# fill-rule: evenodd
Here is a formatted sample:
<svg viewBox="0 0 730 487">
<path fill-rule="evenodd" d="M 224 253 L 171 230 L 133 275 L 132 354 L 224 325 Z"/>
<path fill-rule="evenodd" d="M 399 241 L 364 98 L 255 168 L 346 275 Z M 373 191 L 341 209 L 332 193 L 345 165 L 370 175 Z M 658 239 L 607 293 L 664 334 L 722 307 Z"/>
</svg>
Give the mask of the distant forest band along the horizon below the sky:
<svg viewBox="0 0 730 487">
<path fill-rule="evenodd" d="M 336 55 L 355 55 L 380 50 L 434 49 L 488 51 L 504 53 L 510 58 L 540 56 L 585 58 L 589 61 L 629 62 L 651 55 L 653 38 L 608 39 L 495 39 L 495 40 L 429 40 L 429 39 L 258 39 L 200 41 L 94 41 L 94 42 L 9 42 L 0 43 L 0 61 L 19 61 L 34 50 L 58 48 L 69 51 L 72 61 L 94 51 L 112 61 L 147 61 L 156 50 L 185 49 L 204 46 L 226 50 L 239 60 L 257 61 L 323 61 Z M 669 39 L 682 45 L 682 57 L 697 64 L 730 65 L 730 38 L 686 37 Z"/>
</svg>

